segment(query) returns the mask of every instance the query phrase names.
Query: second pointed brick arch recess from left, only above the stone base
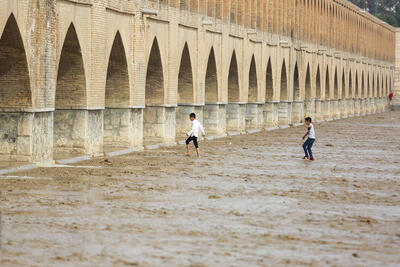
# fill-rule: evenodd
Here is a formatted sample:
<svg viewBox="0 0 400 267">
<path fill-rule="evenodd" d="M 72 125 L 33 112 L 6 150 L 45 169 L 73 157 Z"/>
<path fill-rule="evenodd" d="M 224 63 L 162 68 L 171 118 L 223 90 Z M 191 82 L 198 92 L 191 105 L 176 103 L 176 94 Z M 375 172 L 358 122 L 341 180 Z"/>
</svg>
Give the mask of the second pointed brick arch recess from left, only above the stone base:
<svg viewBox="0 0 400 267">
<path fill-rule="evenodd" d="M 71 109 L 86 107 L 86 76 L 75 26 L 71 23 L 64 39 L 58 63 L 55 107 Z"/>
</svg>

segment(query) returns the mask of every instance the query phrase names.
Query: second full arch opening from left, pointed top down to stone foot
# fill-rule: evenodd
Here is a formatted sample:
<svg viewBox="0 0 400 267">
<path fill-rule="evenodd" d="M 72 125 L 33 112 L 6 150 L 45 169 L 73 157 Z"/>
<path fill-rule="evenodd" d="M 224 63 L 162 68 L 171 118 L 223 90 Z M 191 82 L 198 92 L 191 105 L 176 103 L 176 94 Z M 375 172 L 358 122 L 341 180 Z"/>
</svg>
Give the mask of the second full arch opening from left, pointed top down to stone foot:
<svg viewBox="0 0 400 267">
<path fill-rule="evenodd" d="M 68 28 L 58 63 L 54 112 L 54 147 L 58 153 L 85 153 L 86 77 L 74 25 Z"/>
</svg>

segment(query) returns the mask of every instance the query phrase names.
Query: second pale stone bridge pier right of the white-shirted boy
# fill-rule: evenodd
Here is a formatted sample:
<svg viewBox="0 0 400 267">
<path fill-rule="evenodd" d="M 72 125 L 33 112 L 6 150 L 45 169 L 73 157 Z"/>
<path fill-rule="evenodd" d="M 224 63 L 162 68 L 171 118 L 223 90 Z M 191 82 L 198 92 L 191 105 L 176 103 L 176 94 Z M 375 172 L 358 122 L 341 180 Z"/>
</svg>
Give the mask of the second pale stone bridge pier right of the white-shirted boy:
<svg viewBox="0 0 400 267">
<path fill-rule="evenodd" d="M 226 129 L 228 134 L 246 131 L 246 104 L 228 103 L 226 106 Z"/>
</svg>

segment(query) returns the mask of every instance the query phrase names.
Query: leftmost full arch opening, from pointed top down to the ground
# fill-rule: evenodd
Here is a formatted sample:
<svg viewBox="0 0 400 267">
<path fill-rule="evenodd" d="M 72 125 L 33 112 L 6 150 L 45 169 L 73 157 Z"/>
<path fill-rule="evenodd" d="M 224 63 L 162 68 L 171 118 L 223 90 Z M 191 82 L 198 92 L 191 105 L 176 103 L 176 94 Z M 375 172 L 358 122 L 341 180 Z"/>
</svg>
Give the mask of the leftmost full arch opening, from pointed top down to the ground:
<svg viewBox="0 0 400 267">
<path fill-rule="evenodd" d="M 32 131 L 27 122 L 32 122 L 33 116 L 20 112 L 32 109 L 29 70 L 24 43 L 13 14 L 0 37 L 0 154 L 30 156 L 31 137 L 27 137 L 26 132 Z M 21 141 L 24 141 L 22 145 Z"/>
</svg>

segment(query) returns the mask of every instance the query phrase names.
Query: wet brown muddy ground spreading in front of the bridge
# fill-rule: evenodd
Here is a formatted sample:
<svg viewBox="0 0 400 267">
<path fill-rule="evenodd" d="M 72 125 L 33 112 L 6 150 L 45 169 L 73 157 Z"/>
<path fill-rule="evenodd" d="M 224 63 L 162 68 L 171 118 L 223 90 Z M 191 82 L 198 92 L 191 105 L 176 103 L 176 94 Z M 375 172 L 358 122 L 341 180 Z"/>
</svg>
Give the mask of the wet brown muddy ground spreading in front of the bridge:
<svg viewBox="0 0 400 267">
<path fill-rule="evenodd" d="M 400 112 L 315 128 L 3 176 L 0 265 L 399 266 Z"/>
</svg>

